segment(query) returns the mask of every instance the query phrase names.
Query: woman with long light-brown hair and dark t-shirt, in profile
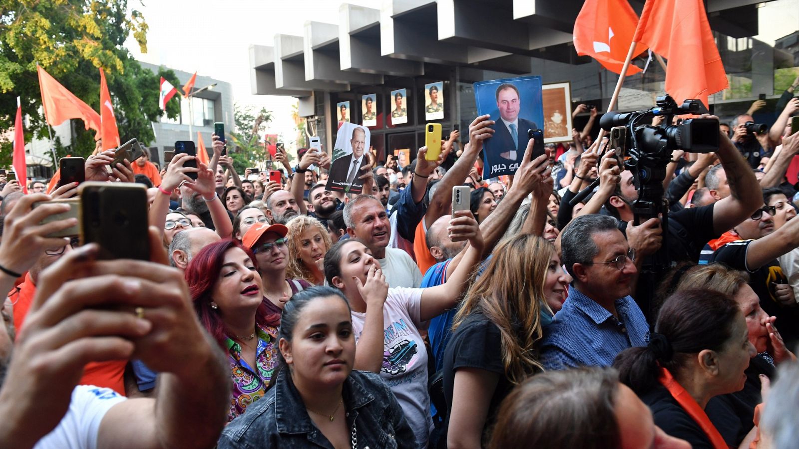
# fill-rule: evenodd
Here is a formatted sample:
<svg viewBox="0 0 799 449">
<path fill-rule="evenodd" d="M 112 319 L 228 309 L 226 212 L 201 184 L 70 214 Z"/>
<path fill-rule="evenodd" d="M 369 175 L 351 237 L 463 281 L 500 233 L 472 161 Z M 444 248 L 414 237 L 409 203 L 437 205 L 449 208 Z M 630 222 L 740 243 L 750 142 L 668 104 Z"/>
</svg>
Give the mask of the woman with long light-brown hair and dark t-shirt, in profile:
<svg viewBox="0 0 799 449">
<path fill-rule="evenodd" d="M 542 328 L 562 307 L 566 274 L 555 247 L 539 236 L 503 240 L 467 293 L 443 356 L 443 388 L 450 410 L 450 447 L 480 447 L 491 436 L 499 404 L 529 375 Z"/>
</svg>

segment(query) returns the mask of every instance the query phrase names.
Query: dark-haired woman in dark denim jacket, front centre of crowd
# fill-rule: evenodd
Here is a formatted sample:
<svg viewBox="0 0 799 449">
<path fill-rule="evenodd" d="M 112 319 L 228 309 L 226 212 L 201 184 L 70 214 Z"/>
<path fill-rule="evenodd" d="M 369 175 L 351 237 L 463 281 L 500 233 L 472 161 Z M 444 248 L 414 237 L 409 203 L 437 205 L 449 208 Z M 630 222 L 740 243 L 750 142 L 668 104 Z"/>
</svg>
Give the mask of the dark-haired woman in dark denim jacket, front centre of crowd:
<svg viewBox="0 0 799 449">
<path fill-rule="evenodd" d="M 292 296 L 280 320 L 282 362 L 274 386 L 230 423 L 220 449 L 417 447 L 391 389 L 380 376 L 352 369 L 350 313 L 336 288 Z"/>
</svg>

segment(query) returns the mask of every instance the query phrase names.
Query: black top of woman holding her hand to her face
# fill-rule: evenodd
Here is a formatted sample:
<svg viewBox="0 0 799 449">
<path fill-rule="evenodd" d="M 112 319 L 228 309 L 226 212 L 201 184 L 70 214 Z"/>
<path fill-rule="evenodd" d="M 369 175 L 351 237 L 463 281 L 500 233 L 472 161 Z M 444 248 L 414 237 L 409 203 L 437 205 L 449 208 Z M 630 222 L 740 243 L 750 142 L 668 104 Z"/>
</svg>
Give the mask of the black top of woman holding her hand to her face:
<svg viewBox="0 0 799 449">
<path fill-rule="evenodd" d="M 740 446 L 746 434 L 754 427 L 754 407 L 763 402 L 758 376 L 765 374 L 774 382 L 775 372 L 774 366 L 758 354 L 749 360 L 749 368 L 745 371 L 746 383 L 741 391 L 716 396 L 707 403 L 707 417 L 730 447 Z"/>
</svg>

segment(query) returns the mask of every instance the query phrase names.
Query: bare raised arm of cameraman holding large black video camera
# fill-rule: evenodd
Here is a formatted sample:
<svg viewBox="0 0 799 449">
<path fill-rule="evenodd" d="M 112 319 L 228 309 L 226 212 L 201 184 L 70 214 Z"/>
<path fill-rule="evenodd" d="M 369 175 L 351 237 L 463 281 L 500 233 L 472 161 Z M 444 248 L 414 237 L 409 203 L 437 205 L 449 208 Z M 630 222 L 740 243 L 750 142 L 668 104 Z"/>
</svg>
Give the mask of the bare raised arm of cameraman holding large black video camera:
<svg viewBox="0 0 799 449">
<path fill-rule="evenodd" d="M 718 117 L 705 117 L 718 120 Z M 761 207 L 763 193 L 749 164 L 735 148 L 733 142 L 729 140 L 729 137 L 719 131 L 718 139 L 716 155 L 721 160 L 721 166 L 724 167 L 729 182 L 729 197 L 718 201 L 713 209 L 714 232 L 721 234 L 744 221 L 746 217 Z"/>
</svg>

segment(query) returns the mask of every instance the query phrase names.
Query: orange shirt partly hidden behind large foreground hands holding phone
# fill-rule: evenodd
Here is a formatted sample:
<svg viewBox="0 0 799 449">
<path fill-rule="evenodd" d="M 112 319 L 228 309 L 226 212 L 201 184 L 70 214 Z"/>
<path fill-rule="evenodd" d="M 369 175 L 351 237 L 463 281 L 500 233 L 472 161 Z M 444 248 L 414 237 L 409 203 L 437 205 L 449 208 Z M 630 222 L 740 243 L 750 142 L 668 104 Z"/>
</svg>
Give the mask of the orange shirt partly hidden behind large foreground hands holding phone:
<svg viewBox="0 0 799 449">
<path fill-rule="evenodd" d="M 13 295 L 19 295 L 17 303 L 14 304 L 14 328 L 17 333 L 22 329 L 22 324 L 25 321 L 25 316 L 28 314 L 30 304 L 36 295 L 36 285 L 30 279 L 30 273 L 26 274 L 25 282 L 19 284 L 19 292 L 11 290 L 9 296 L 14 299 Z M 109 360 L 107 362 L 89 362 L 83 367 L 83 377 L 81 377 L 81 385 L 96 385 L 97 387 L 108 387 L 117 391 L 120 395 L 125 395 L 125 365 L 128 364 L 127 360 Z"/>
</svg>

